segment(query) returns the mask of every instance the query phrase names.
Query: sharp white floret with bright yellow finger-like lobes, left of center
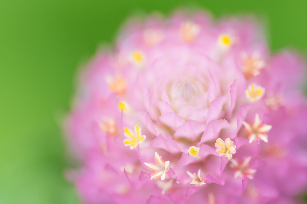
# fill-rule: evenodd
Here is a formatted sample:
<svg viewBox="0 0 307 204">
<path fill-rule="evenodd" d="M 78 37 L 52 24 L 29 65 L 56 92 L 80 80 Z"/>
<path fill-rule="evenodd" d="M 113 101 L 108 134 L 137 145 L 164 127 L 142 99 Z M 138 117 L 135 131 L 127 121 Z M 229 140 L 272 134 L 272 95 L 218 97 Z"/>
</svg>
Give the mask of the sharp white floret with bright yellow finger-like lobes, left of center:
<svg viewBox="0 0 307 204">
<path fill-rule="evenodd" d="M 124 136 L 126 137 L 124 143 L 125 146 L 130 146 L 130 149 L 135 148 L 146 139 L 146 136 L 142 135 L 141 128 L 138 125 L 135 125 L 134 127 L 134 134 L 126 127 L 124 128 L 124 131 Z"/>
</svg>

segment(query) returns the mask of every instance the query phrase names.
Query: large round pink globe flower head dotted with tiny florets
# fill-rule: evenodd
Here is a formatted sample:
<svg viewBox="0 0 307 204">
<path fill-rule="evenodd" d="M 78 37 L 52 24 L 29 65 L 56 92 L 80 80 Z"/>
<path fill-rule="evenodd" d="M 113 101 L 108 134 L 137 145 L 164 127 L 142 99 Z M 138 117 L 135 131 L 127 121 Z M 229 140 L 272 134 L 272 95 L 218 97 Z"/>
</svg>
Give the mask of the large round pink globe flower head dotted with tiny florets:
<svg viewBox="0 0 307 204">
<path fill-rule="evenodd" d="M 133 20 L 80 75 L 66 120 L 84 203 L 300 203 L 304 64 L 252 18 Z"/>
</svg>

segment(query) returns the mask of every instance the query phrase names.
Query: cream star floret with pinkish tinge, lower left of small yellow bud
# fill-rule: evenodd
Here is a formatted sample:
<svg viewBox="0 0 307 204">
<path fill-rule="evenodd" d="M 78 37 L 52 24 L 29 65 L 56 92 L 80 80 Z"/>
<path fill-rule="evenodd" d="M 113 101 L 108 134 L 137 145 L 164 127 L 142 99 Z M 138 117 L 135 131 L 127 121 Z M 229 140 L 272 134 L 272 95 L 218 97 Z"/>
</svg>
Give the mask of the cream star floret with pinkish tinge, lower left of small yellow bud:
<svg viewBox="0 0 307 204">
<path fill-rule="evenodd" d="M 150 180 L 161 178 L 163 181 L 167 172 L 169 171 L 169 161 L 163 161 L 162 156 L 159 156 L 157 152 L 155 153 L 154 160 L 156 164 L 146 162 L 144 163 L 148 170 L 153 171 L 153 173 L 150 175 Z"/>
</svg>

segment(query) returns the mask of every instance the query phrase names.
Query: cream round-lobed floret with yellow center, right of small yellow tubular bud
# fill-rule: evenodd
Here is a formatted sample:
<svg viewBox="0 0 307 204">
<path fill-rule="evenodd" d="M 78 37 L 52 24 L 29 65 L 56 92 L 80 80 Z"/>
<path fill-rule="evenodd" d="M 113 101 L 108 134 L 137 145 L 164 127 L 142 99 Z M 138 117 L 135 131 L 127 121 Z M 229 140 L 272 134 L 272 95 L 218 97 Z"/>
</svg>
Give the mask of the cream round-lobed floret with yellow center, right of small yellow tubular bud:
<svg viewBox="0 0 307 204">
<path fill-rule="evenodd" d="M 216 140 L 214 146 L 216 147 L 216 152 L 219 153 L 219 156 L 227 156 L 228 159 L 231 159 L 232 154 L 236 152 L 235 145 L 233 144 L 233 141 L 230 140 L 230 138 L 227 138 L 225 141 L 219 138 Z"/>
</svg>

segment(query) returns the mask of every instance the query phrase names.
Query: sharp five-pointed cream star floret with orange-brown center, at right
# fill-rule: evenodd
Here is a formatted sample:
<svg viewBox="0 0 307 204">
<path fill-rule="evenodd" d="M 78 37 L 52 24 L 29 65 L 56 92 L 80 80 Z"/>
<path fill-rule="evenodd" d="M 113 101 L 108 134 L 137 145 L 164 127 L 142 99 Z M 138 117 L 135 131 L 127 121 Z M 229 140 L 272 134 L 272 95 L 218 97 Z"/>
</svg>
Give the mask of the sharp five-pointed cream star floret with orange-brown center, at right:
<svg viewBox="0 0 307 204">
<path fill-rule="evenodd" d="M 258 114 L 256 114 L 255 120 L 252 125 L 250 125 L 245 121 L 243 121 L 242 123 L 248 132 L 249 143 L 252 143 L 254 140 L 257 140 L 258 138 L 260 140 L 263 140 L 264 142 L 269 141 L 266 133 L 270 131 L 270 129 L 272 129 L 272 125 L 266 125 L 266 124 L 263 125 Z"/>
</svg>

